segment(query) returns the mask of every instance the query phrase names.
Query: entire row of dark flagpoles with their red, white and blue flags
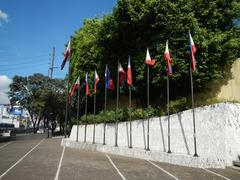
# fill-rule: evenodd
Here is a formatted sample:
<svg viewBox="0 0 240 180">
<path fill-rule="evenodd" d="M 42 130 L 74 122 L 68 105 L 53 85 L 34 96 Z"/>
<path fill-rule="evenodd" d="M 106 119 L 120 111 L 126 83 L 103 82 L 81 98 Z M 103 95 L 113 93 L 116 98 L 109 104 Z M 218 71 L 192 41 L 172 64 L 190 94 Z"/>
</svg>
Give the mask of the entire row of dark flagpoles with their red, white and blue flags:
<svg viewBox="0 0 240 180">
<path fill-rule="evenodd" d="M 195 127 L 195 111 L 194 111 L 194 96 L 193 96 L 193 77 L 192 77 L 192 71 L 196 69 L 196 62 L 195 62 L 195 52 L 196 52 L 196 47 L 193 42 L 192 36 L 189 32 L 189 41 L 190 41 L 190 81 L 191 81 L 191 98 L 192 98 L 192 114 L 193 114 L 193 138 L 194 138 L 194 156 L 198 156 L 197 154 L 197 146 L 196 146 L 196 127 Z M 61 65 L 61 69 L 64 68 L 65 63 L 67 59 L 70 59 L 70 43 L 69 41 L 66 52 L 64 53 L 64 60 Z M 164 52 L 164 59 L 167 61 L 167 114 L 168 114 L 168 153 L 171 153 L 171 147 L 170 147 L 170 112 L 169 112 L 169 80 L 172 76 L 172 67 L 171 67 L 171 57 L 170 57 L 170 52 L 168 49 L 168 40 L 166 41 L 166 49 Z M 154 67 L 156 64 L 155 59 L 151 59 L 149 50 L 147 49 L 146 53 L 146 59 L 144 62 L 147 66 L 147 108 L 150 107 L 149 103 L 149 73 L 150 73 L 150 68 Z M 68 83 L 67 83 L 67 93 L 69 92 L 69 74 L 70 74 L 70 60 L 69 60 L 69 68 L 68 68 Z M 116 103 L 116 110 L 115 110 L 115 146 L 118 146 L 118 108 L 119 108 L 119 85 L 122 84 L 124 80 L 126 80 L 126 83 L 129 88 L 129 125 L 130 125 L 130 135 L 129 135 L 129 148 L 132 148 L 132 119 L 131 119 L 131 87 L 132 87 L 132 70 L 131 70 L 131 62 L 130 62 L 130 56 L 128 57 L 128 68 L 127 68 L 127 73 L 123 70 L 121 64 L 118 61 L 117 64 L 117 103 Z M 126 78 L 127 77 L 127 78 Z M 86 85 L 86 97 L 85 97 L 85 132 L 84 132 L 84 143 L 86 143 L 86 134 L 87 134 L 87 100 L 88 96 L 90 95 L 89 91 L 89 83 L 88 83 L 88 73 L 86 73 L 85 77 L 85 85 Z M 94 71 L 94 107 L 93 107 L 93 113 L 94 116 L 96 114 L 96 94 L 97 94 L 97 84 L 100 81 L 96 70 Z M 78 89 L 78 105 L 77 105 L 77 138 L 76 141 L 78 141 L 78 134 L 79 134 L 79 101 L 80 101 L 80 76 L 78 77 L 76 83 L 72 87 L 70 95 L 72 96 L 75 89 Z M 105 69 L 105 99 L 104 99 L 104 113 L 106 113 L 107 109 L 107 91 L 108 89 L 110 90 L 115 90 L 113 80 L 110 76 L 110 71 L 108 69 L 108 65 L 106 65 Z M 71 98 L 71 97 L 70 97 Z M 66 113 L 65 113 L 65 138 L 67 136 L 67 118 L 68 118 L 68 101 L 69 101 L 69 95 L 67 94 L 66 97 Z M 94 121 L 93 124 L 93 143 L 95 143 L 95 125 L 96 122 Z M 149 114 L 147 113 L 147 146 L 145 147 L 145 150 L 149 151 L 149 133 L 150 133 L 150 125 L 149 125 Z M 103 145 L 106 144 L 106 120 L 104 119 L 104 124 L 103 124 Z"/>
</svg>

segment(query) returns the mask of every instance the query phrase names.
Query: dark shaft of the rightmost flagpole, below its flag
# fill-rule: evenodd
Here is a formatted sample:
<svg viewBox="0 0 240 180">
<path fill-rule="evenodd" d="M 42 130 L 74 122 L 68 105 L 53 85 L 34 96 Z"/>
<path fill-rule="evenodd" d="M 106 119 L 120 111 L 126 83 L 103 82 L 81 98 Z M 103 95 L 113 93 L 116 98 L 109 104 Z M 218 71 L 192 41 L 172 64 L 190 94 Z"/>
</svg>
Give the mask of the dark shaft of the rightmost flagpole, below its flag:
<svg viewBox="0 0 240 180">
<path fill-rule="evenodd" d="M 192 113 L 193 113 L 193 138 L 194 138 L 194 155 L 193 156 L 198 157 L 198 154 L 197 154 L 197 140 L 196 140 L 196 127 L 195 127 L 194 96 L 193 96 L 193 77 L 192 77 L 191 63 L 190 63 L 190 80 L 191 80 Z"/>
</svg>

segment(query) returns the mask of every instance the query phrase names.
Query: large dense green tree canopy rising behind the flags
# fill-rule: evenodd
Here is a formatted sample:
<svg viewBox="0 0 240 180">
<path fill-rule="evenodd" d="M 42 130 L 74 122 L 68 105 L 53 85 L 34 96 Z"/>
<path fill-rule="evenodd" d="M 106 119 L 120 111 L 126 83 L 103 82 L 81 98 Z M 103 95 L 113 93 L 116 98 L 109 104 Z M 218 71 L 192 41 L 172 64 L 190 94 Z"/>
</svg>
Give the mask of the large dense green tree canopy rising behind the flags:
<svg viewBox="0 0 240 180">
<path fill-rule="evenodd" d="M 142 97 L 148 47 L 157 60 L 150 72 L 151 92 L 161 92 L 164 97 L 167 72 L 163 54 L 169 40 L 174 87 L 170 89 L 171 97 L 186 97 L 190 94 L 191 31 L 197 46 L 194 87 L 197 92 L 207 91 L 209 83 L 223 83 L 231 76 L 230 67 L 240 55 L 239 17 L 238 0 L 118 0 L 112 13 L 86 19 L 73 35 L 71 81 L 79 74 L 84 77 L 87 71 L 93 77 L 94 69 L 103 80 L 106 64 L 115 78 L 118 60 L 126 67 L 130 55 L 135 95 Z"/>
</svg>

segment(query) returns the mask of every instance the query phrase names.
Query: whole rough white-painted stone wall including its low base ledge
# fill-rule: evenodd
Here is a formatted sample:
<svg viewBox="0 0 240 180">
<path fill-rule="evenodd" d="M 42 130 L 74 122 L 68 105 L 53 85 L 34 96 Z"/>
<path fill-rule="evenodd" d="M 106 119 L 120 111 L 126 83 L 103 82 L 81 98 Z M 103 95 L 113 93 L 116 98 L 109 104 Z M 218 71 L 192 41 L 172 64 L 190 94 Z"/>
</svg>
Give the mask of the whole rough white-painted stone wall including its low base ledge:
<svg viewBox="0 0 240 180">
<path fill-rule="evenodd" d="M 145 151 L 147 121 L 132 121 L 132 145 L 129 143 L 129 122 L 118 125 L 118 147 L 115 144 L 115 124 L 106 126 L 106 145 L 103 142 L 103 124 L 96 125 L 96 144 L 92 144 L 93 125 L 87 126 L 87 143 L 84 125 L 79 126 L 79 142 L 76 142 L 77 126 L 74 125 L 68 139 L 62 145 L 112 154 L 150 159 L 153 161 L 192 167 L 224 168 L 240 155 L 240 104 L 220 103 L 199 107 L 196 112 L 196 138 L 199 157 L 193 157 L 192 110 L 173 114 L 171 124 L 171 154 L 166 153 L 167 116 L 150 119 L 150 151 Z"/>
</svg>

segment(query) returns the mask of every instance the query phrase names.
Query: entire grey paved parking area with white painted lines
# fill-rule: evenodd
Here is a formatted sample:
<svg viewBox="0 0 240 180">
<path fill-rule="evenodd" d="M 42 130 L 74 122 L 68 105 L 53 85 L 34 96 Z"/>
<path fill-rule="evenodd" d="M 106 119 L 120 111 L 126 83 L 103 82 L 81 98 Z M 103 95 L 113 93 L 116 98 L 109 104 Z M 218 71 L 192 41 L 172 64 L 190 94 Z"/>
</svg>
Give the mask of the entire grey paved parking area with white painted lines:
<svg viewBox="0 0 240 180">
<path fill-rule="evenodd" d="M 240 171 L 189 168 L 60 146 L 61 138 L 26 136 L 0 142 L 0 179 L 240 180 Z"/>
</svg>

